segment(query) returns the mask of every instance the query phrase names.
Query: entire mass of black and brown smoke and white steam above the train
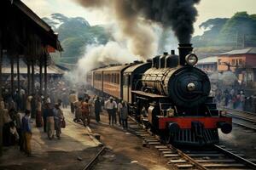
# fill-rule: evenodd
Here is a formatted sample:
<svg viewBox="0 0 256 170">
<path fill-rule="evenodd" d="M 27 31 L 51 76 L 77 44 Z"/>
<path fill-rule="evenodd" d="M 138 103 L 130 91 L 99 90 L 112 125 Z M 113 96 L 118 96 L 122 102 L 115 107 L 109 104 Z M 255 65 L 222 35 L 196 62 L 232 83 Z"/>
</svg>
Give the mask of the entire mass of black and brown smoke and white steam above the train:
<svg viewBox="0 0 256 170">
<path fill-rule="evenodd" d="M 115 21 L 116 25 L 116 29 L 113 28 L 115 31 L 113 38 L 116 42 L 87 47 L 84 57 L 79 59 L 76 71 L 71 74 L 70 78 L 75 78 L 73 75 L 77 75 L 77 80 L 74 82 L 79 82 L 81 77 L 85 77 L 87 71 L 102 65 L 124 64 L 136 59 L 134 56 L 143 60 L 152 58 L 158 50 L 168 47 L 165 43 L 170 42 L 168 38 L 170 28 L 179 43 L 189 43 L 197 16 L 194 5 L 200 2 L 200 0 L 74 1 L 84 8 L 103 11 L 109 19 Z M 160 26 L 162 32 L 154 31 L 154 25 Z"/>
</svg>

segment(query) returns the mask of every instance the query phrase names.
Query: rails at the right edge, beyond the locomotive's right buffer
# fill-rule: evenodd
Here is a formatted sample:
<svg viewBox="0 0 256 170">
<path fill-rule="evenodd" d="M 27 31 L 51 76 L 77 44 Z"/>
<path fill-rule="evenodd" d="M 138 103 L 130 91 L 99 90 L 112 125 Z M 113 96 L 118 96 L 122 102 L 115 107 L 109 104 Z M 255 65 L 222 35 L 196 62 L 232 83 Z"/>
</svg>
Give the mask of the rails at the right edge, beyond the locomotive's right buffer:
<svg viewBox="0 0 256 170">
<path fill-rule="evenodd" d="M 228 111 L 227 115 L 232 116 L 234 124 L 256 131 L 256 114 L 230 108 L 225 109 Z"/>
</svg>

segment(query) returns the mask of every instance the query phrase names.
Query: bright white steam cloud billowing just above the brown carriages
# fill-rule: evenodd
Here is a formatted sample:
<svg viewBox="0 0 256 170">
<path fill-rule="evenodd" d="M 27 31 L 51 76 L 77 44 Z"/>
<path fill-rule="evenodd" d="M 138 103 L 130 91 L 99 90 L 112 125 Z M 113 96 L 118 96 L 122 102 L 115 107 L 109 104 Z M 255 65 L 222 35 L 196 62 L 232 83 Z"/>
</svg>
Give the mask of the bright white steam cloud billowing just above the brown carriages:
<svg viewBox="0 0 256 170">
<path fill-rule="evenodd" d="M 136 58 L 118 42 L 106 45 L 91 44 L 86 47 L 84 57 L 79 59 L 76 69 L 67 72 L 65 78 L 71 84 L 84 83 L 86 72 L 102 65 L 130 63 Z"/>
</svg>

